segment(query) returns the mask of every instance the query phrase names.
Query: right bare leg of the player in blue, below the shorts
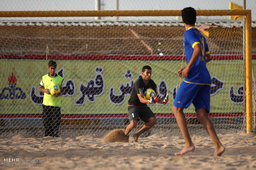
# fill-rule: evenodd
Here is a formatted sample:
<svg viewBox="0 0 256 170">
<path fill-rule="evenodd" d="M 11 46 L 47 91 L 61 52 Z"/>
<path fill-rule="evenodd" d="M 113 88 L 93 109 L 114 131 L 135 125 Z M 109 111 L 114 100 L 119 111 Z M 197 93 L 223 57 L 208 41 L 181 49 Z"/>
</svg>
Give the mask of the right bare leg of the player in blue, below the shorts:
<svg viewBox="0 0 256 170">
<path fill-rule="evenodd" d="M 207 116 L 207 112 L 205 108 L 201 108 L 196 110 L 197 117 L 200 120 L 200 122 L 204 125 L 204 128 L 206 129 L 207 133 L 211 137 L 214 143 L 215 152 L 214 156 L 221 156 L 225 152 L 225 147 L 221 144 L 217 133 L 214 129 L 213 123 Z"/>
</svg>

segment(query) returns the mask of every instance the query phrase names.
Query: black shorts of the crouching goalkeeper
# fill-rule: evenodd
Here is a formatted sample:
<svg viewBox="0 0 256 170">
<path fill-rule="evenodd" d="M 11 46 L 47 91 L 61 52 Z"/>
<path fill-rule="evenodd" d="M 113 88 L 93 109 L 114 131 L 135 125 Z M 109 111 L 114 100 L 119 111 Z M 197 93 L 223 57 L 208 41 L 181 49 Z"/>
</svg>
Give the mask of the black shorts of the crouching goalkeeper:
<svg viewBox="0 0 256 170">
<path fill-rule="evenodd" d="M 128 116 L 130 121 L 134 119 L 142 119 L 144 122 L 148 122 L 150 117 L 155 117 L 152 110 L 148 107 L 136 107 L 128 106 Z"/>
</svg>

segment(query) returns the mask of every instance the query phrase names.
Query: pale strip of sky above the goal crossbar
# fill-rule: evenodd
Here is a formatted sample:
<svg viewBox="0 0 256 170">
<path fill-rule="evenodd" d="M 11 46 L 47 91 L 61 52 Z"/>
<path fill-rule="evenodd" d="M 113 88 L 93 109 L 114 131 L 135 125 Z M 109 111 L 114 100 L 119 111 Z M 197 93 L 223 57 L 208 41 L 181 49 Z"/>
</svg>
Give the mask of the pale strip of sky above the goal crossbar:
<svg viewBox="0 0 256 170">
<path fill-rule="evenodd" d="M 119 10 L 229 9 L 229 2 L 243 6 L 244 0 L 118 0 Z M 116 0 L 100 0 L 101 10 L 115 10 Z M 245 0 L 256 21 L 256 0 Z M 95 10 L 95 0 L 0 0 L 0 11 Z"/>
</svg>

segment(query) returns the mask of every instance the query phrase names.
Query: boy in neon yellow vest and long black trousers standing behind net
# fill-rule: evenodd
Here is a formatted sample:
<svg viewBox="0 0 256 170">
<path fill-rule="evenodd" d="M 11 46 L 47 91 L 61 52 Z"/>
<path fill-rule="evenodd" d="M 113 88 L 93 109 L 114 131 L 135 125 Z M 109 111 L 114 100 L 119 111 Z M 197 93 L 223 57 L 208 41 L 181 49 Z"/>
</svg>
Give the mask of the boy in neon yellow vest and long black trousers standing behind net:
<svg viewBox="0 0 256 170">
<path fill-rule="evenodd" d="M 48 62 L 49 73 L 44 75 L 40 82 L 40 92 L 44 93 L 43 96 L 43 126 L 45 128 L 45 136 L 60 137 L 60 96 L 64 90 L 62 88 L 63 78 L 55 73 L 57 64 L 55 61 Z M 54 83 L 60 88 L 60 92 L 52 95 L 50 93 L 50 85 Z"/>
</svg>

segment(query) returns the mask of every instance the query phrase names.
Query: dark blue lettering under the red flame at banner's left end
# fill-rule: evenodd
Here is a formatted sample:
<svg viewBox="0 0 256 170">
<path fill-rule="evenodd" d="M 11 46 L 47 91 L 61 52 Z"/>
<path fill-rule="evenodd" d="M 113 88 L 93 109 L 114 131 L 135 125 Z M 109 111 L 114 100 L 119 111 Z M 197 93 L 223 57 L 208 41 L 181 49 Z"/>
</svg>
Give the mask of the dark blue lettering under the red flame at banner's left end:
<svg viewBox="0 0 256 170">
<path fill-rule="evenodd" d="M 16 87 L 16 83 L 9 83 L 9 87 L 2 89 L 0 99 L 25 99 L 26 93 L 20 87 Z"/>
</svg>

